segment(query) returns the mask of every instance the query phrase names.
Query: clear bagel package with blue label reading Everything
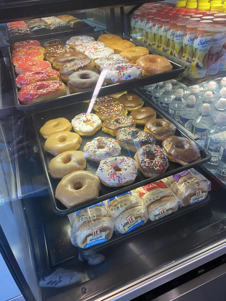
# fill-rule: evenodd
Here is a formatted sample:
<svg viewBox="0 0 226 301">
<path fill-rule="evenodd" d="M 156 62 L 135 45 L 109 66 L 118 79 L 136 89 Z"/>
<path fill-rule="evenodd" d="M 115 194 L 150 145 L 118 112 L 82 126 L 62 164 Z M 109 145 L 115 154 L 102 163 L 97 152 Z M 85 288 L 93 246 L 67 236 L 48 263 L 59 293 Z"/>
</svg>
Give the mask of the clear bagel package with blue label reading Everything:
<svg viewBox="0 0 226 301">
<path fill-rule="evenodd" d="M 148 221 L 145 204 L 135 191 L 129 191 L 105 201 L 115 219 L 115 232 L 124 234 Z"/>
</svg>

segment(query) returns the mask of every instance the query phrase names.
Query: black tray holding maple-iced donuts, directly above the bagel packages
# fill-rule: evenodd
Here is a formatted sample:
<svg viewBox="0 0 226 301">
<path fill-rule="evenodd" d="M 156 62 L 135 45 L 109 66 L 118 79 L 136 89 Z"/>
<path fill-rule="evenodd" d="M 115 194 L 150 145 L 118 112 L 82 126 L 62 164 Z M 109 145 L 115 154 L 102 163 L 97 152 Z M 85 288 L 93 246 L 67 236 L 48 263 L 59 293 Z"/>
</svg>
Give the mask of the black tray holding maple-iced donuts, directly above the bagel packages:
<svg viewBox="0 0 226 301">
<path fill-rule="evenodd" d="M 136 93 L 136 91 L 131 91 L 131 93 L 134 93 L 134 92 Z M 152 104 L 150 104 L 149 102 L 145 101 L 144 106 L 145 107 L 152 107 L 156 111 L 156 118 L 165 118 L 165 119 L 167 119 L 167 117 L 165 115 L 163 115 L 162 112 L 160 112 L 158 110 L 158 108 L 153 107 Z M 64 107 L 61 107 L 61 108 L 56 108 L 56 109 L 52 109 L 52 110 L 48 110 L 48 111 L 45 111 L 45 112 L 42 112 L 42 113 L 36 113 L 36 114 L 32 115 L 34 128 L 35 128 L 36 141 L 37 141 L 37 145 L 38 145 L 38 148 L 39 148 L 39 153 L 40 153 L 40 156 L 41 156 L 41 159 L 42 159 L 43 167 L 44 167 L 44 170 L 45 170 L 45 173 L 46 173 L 46 177 L 47 177 L 47 180 L 48 180 L 48 183 L 49 183 L 49 194 L 50 194 L 50 197 L 51 197 L 52 207 L 53 207 L 54 212 L 58 215 L 67 215 L 67 214 L 70 214 L 70 213 L 74 213 L 77 210 L 86 208 L 87 206 L 91 206 L 93 204 L 96 204 L 96 203 L 99 203 L 101 201 L 107 200 L 108 198 L 111 198 L 111 197 L 115 197 L 119 194 L 123 194 L 127 191 L 138 188 L 140 186 L 158 181 L 162 178 L 168 177 L 170 175 L 174 175 L 175 173 L 182 172 L 186 169 L 198 166 L 199 164 L 203 164 L 205 162 L 208 162 L 211 159 L 211 154 L 208 151 L 206 151 L 206 149 L 204 147 L 200 146 L 196 142 L 196 144 L 197 144 L 197 146 L 199 147 L 199 150 L 200 150 L 201 160 L 199 160 L 195 163 L 188 164 L 187 166 L 181 166 L 178 163 L 169 162 L 169 167 L 166 170 L 166 172 L 162 175 L 157 175 L 153 178 L 145 178 L 142 175 L 142 173 L 140 172 L 140 170 L 138 170 L 138 175 L 136 177 L 135 182 L 132 185 L 112 188 L 112 187 L 106 187 L 105 185 L 101 184 L 98 198 L 96 198 L 94 200 L 91 200 L 89 202 L 86 202 L 82 205 L 75 206 L 73 208 L 68 209 L 59 200 L 57 200 L 55 198 L 55 189 L 56 189 L 56 186 L 58 185 L 58 183 L 60 182 L 60 180 L 53 179 L 49 175 L 48 166 L 49 166 L 50 160 L 53 158 L 53 155 L 49 154 L 48 152 L 46 152 L 44 150 L 44 144 L 45 144 L 46 140 L 40 135 L 39 130 L 50 119 L 55 119 L 55 118 L 58 118 L 58 117 L 64 117 L 64 118 L 71 121 L 76 115 L 78 115 L 80 113 L 83 113 L 83 112 L 86 112 L 87 109 L 88 109 L 88 103 L 83 103 L 82 102 L 82 103 L 79 103 L 79 104 L 71 105 L 69 107 L 64 106 Z M 92 111 L 92 113 L 95 113 L 95 111 Z M 137 128 L 144 129 L 143 126 L 137 126 Z M 183 128 L 181 128 L 181 129 L 177 128 L 176 131 L 175 131 L 175 135 L 176 136 L 181 136 L 181 137 L 191 138 L 189 135 L 187 135 L 187 132 L 184 131 Z M 88 141 L 92 141 L 93 138 L 96 138 L 96 137 L 99 137 L 99 136 L 103 136 L 103 137 L 109 136 L 109 137 L 111 137 L 111 135 L 102 132 L 102 129 L 100 129 L 93 136 L 90 136 L 90 137 L 84 137 L 83 136 L 81 147 L 80 147 L 79 150 L 83 151 L 83 147 Z M 115 138 L 115 137 L 113 137 L 113 138 Z M 161 141 L 156 141 L 156 144 L 158 144 L 160 147 L 162 147 Z M 134 155 L 135 155 L 135 153 L 133 153 L 133 152 L 129 152 L 129 151 L 126 151 L 124 149 L 121 150 L 121 156 L 134 158 Z M 85 170 L 88 170 L 88 171 L 92 172 L 93 174 L 95 174 L 98 166 L 99 166 L 98 163 L 86 159 L 86 169 Z"/>
</svg>

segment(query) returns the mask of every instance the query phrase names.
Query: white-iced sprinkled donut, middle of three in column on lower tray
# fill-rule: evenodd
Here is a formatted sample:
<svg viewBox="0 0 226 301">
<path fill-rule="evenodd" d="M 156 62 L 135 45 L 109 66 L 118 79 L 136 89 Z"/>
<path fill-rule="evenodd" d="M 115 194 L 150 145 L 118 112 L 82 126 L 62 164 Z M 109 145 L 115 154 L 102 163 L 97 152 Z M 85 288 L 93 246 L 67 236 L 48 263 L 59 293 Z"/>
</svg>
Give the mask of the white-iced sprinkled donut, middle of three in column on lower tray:
<svg viewBox="0 0 226 301">
<path fill-rule="evenodd" d="M 87 159 L 100 162 L 111 157 L 118 157 L 121 154 L 121 147 L 117 141 L 109 137 L 97 137 L 87 142 L 83 149 Z"/>
</svg>

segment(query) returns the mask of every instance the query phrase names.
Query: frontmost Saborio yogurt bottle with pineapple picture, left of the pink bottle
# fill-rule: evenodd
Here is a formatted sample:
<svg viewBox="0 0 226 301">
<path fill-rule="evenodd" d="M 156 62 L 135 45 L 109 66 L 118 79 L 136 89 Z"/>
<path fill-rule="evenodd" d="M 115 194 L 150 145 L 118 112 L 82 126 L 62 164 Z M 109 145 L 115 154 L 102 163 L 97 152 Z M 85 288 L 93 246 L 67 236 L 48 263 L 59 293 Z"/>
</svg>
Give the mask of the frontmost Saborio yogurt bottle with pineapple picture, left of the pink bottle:
<svg viewBox="0 0 226 301">
<path fill-rule="evenodd" d="M 189 75 L 193 78 L 202 78 L 206 75 L 206 56 L 212 42 L 212 24 L 211 20 L 199 22 L 194 41 L 194 57 L 189 69 Z"/>
</svg>

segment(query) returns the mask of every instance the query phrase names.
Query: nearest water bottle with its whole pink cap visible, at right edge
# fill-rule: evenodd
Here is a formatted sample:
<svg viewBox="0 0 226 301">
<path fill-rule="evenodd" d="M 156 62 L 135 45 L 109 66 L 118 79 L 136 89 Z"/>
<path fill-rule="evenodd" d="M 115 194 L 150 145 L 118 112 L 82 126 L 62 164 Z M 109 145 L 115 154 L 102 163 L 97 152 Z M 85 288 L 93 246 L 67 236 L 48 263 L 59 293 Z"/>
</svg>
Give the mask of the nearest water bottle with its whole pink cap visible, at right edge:
<svg viewBox="0 0 226 301">
<path fill-rule="evenodd" d="M 209 162 L 205 163 L 204 166 L 211 172 L 216 171 L 221 142 L 224 140 L 224 135 L 221 135 L 221 132 L 226 130 L 225 123 L 226 115 L 224 113 L 219 113 L 214 125 L 206 130 L 204 147 L 210 151 L 212 158 Z"/>
</svg>

